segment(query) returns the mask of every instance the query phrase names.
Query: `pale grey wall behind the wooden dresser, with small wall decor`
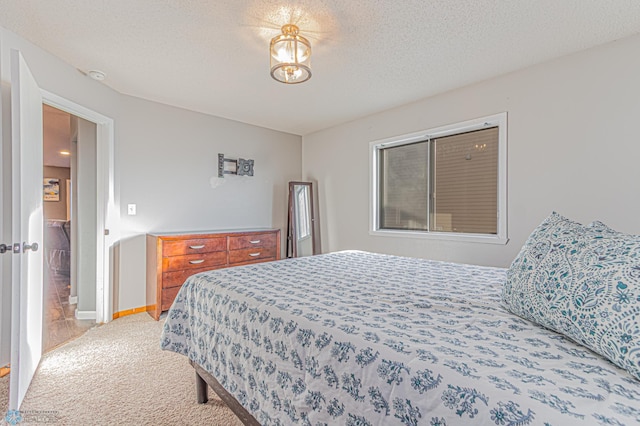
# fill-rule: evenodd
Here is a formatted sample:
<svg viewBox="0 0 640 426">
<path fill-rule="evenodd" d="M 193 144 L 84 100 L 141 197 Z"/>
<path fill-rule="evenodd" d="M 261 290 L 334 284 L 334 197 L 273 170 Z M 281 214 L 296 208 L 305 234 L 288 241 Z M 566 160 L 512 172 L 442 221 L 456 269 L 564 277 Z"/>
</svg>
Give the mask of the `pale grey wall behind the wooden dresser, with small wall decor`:
<svg viewBox="0 0 640 426">
<path fill-rule="evenodd" d="M 287 183 L 301 174 L 299 136 L 128 96 L 121 108 L 116 161 L 122 239 L 115 311 L 145 304 L 140 282 L 147 232 L 274 227 L 284 238 Z M 227 176 L 213 188 L 218 153 L 254 160 L 254 176 Z M 127 215 L 128 204 L 136 204 L 136 216 Z"/>
</svg>

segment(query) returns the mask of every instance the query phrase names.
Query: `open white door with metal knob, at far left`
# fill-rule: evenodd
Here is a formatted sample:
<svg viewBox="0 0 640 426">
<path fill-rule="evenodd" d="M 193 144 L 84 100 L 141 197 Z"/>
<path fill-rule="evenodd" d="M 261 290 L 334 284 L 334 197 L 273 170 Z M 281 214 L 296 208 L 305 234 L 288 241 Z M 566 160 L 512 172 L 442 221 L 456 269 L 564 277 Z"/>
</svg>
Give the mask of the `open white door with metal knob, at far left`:
<svg viewBox="0 0 640 426">
<path fill-rule="evenodd" d="M 42 95 L 11 51 L 12 295 L 9 409 L 17 410 L 42 356 Z M 36 246 L 36 244 L 39 246 Z"/>
</svg>

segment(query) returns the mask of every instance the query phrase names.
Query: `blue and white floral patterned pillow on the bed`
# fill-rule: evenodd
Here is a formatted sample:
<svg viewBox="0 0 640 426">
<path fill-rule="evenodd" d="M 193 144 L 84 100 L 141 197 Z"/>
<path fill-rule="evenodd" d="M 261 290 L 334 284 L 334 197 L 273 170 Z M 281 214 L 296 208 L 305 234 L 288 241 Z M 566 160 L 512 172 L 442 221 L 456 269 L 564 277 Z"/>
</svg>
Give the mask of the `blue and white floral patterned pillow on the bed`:
<svg viewBox="0 0 640 426">
<path fill-rule="evenodd" d="M 640 236 L 553 212 L 509 267 L 502 300 L 640 380 Z"/>
</svg>

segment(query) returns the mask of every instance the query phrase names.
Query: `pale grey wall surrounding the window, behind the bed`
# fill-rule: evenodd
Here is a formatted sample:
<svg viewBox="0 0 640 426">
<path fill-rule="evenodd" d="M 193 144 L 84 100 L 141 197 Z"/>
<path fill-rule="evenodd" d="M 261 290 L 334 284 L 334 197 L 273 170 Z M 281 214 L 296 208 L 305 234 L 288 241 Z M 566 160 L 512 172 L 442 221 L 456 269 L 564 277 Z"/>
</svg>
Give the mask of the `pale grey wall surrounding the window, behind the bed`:
<svg viewBox="0 0 640 426">
<path fill-rule="evenodd" d="M 640 234 L 640 36 L 303 137 L 323 251 L 508 266 L 552 210 Z M 428 84 L 428 82 L 425 82 Z M 508 113 L 507 245 L 369 235 L 369 143 Z"/>
</svg>

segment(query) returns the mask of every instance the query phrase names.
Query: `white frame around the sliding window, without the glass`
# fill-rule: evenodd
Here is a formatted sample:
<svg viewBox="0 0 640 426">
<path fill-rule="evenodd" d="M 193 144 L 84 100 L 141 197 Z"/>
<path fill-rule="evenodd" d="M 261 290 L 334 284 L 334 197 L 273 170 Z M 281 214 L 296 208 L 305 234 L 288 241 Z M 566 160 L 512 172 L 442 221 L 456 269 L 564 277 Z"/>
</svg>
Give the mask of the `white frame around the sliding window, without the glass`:
<svg viewBox="0 0 640 426">
<path fill-rule="evenodd" d="M 379 218 L 379 159 L 380 151 L 399 145 L 406 145 L 437 137 L 449 136 L 488 127 L 498 127 L 498 217 L 496 234 L 472 234 L 459 232 L 434 232 L 399 229 L 380 229 Z M 369 234 L 374 236 L 426 238 L 460 242 L 506 244 L 507 236 L 507 113 L 502 112 L 486 117 L 449 124 L 419 132 L 393 136 L 369 143 Z M 431 172 L 429 172 L 431 173 Z"/>
</svg>

